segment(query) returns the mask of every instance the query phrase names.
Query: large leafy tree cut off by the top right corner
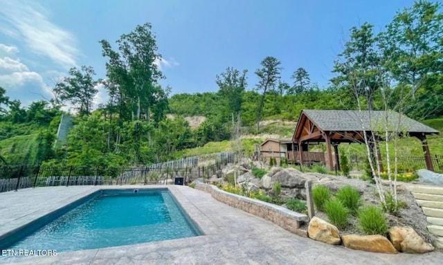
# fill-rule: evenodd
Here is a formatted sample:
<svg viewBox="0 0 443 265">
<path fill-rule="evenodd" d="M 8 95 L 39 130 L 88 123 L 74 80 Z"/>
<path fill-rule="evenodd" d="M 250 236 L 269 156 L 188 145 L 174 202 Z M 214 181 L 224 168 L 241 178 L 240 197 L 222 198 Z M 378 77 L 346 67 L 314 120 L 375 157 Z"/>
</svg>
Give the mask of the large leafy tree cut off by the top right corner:
<svg viewBox="0 0 443 265">
<path fill-rule="evenodd" d="M 416 1 L 397 12 L 379 35 L 385 66 L 395 84 L 412 89 L 415 104 L 410 104 L 413 109 L 406 113 L 413 111 L 416 118 L 424 118 L 424 112 L 443 114 L 443 89 L 438 82 L 443 74 L 441 8 L 439 2 Z"/>
</svg>

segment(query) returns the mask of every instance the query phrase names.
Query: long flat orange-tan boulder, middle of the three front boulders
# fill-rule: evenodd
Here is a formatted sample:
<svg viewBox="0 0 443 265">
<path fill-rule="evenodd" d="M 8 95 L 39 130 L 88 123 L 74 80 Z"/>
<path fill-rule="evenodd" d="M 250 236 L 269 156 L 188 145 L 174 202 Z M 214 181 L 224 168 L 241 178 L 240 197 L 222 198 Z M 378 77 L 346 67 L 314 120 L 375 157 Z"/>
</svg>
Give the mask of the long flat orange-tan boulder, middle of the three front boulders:
<svg viewBox="0 0 443 265">
<path fill-rule="evenodd" d="M 387 254 L 397 253 L 397 249 L 382 235 L 343 235 L 341 240 L 346 248 Z"/>
</svg>

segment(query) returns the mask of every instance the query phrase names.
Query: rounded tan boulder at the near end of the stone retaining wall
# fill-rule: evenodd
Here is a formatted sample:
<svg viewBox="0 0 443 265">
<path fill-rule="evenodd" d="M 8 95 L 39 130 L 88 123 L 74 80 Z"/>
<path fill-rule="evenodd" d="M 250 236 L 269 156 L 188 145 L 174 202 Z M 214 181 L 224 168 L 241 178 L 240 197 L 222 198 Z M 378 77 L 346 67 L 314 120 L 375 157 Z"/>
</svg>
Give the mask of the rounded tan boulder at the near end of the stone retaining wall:
<svg viewBox="0 0 443 265">
<path fill-rule="evenodd" d="M 311 221 L 309 221 L 307 235 L 311 239 L 331 245 L 338 245 L 341 243 L 340 233 L 336 226 L 333 226 L 331 223 L 323 221 L 318 217 L 313 217 Z"/>
</svg>

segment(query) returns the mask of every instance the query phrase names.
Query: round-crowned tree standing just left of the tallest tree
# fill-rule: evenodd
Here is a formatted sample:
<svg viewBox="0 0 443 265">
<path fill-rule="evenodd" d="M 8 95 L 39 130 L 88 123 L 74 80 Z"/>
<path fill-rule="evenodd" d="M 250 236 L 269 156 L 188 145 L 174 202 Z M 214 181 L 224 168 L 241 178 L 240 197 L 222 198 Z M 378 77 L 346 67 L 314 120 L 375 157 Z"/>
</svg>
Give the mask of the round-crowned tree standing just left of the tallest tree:
<svg viewBox="0 0 443 265">
<path fill-rule="evenodd" d="M 82 66 L 80 69 L 71 68 L 69 75 L 57 84 L 55 92 L 60 94 L 61 100 L 71 102 L 80 116 L 91 114 L 93 98 L 98 92 L 97 81 L 93 78 L 96 72 L 91 66 Z"/>
</svg>

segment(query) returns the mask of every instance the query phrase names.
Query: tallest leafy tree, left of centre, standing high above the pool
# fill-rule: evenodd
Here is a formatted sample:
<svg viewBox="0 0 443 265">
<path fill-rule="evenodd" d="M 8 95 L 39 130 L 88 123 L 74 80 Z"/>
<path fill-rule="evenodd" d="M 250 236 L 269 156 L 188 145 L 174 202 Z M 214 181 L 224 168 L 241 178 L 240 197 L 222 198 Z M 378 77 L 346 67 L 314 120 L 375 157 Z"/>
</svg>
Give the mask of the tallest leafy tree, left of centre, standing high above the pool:
<svg viewBox="0 0 443 265">
<path fill-rule="evenodd" d="M 129 100 L 133 120 L 145 112 L 150 121 L 150 108 L 156 103 L 156 82 L 164 78 L 156 62 L 161 62 L 157 53 L 155 35 L 151 24 L 136 26 L 129 34 L 117 40 L 118 52 L 113 51 L 107 40 L 100 41 L 102 55 L 109 57 L 107 75 L 120 86 L 121 94 Z"/>
</svg>

